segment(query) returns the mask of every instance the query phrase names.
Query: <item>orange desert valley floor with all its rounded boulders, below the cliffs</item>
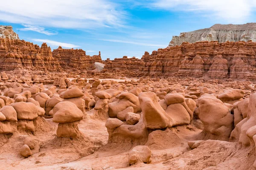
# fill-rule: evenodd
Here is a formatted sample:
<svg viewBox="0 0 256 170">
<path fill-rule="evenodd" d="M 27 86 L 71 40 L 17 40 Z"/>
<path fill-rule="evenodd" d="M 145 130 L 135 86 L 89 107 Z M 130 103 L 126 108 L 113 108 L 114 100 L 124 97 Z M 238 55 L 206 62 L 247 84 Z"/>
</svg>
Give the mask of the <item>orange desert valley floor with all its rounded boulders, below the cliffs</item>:
<svg viewBox="0 0 256 170">
<path fill-rule="evenodd" d="M 3 170 L 256 167 L 250 81 L 2 72 L 0 88 Z"/>
</svg>

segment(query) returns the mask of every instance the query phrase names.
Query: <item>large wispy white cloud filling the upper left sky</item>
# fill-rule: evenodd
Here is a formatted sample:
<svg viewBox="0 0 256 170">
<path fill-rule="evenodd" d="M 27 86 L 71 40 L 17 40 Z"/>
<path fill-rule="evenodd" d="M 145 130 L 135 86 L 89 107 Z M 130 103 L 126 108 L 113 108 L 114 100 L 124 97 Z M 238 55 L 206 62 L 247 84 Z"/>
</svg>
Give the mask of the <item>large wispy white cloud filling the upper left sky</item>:
<svg viewBox="0 0 256 170">
<path fill-rule="evenodd" d="M 108 0 L 6 0 L 0 20 L 58 28 L 119 27 L 123 11 Z"/>
</svg>

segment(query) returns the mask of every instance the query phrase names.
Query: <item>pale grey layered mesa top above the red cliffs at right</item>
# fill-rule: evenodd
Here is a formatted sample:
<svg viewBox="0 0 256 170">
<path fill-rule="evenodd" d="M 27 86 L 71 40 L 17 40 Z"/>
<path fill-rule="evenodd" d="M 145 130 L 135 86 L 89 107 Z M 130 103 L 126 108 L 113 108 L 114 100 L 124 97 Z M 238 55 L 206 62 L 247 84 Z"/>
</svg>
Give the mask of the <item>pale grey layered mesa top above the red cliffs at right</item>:
<svg viewBox="0 0 256 170">
<path fill-rule="evenodd" d="M 180 33 L 173 36 L 169 46 L 181 45 L 183 42 L 195 43 L 199 41 L 256 41 L 256 23 L 243 25 L 215 24 L 210 28 L 199 29 L 191 32 Z"/>
</svg>

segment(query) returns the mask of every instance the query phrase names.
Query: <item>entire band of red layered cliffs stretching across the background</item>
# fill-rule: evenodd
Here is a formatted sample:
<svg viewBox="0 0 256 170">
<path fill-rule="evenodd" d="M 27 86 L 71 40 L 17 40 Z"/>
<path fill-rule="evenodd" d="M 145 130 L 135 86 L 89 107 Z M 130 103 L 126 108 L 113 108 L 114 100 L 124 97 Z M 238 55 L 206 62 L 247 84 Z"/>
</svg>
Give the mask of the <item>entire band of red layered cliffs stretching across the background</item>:
<svg viewBox="0 0 256 170">
<path fill-rule="evenodd" d="M 95 65 L 96 63 L 96 65 Z M 102 63 L 102 64 L 100 64 Z M 97 71 L 99 65 L 105 65 Z M 100 66 L 100 69 L 102 66 Z M 160 48 L 141 59 L 124 56 L 102 61 L 82 49 L 41 47 L 19 39 L 0 38 L 0 71 L 28 69 L 99 77 L 195 77 L 256 79 L 256 42 L 202 41 Z M 99 68 L 98 68 L 99 70 Z"/>
</svg>

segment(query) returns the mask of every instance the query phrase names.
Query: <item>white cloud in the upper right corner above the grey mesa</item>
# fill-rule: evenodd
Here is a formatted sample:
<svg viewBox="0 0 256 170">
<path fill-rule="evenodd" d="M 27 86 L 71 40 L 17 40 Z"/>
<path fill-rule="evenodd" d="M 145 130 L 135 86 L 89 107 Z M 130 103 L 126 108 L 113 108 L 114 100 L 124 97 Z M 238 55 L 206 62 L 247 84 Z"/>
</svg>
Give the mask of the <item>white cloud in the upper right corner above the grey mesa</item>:
<svg viewBox="0 0 256 170">
<path fill-rule="evenodd" d="M 256 8 L 256 0 L 153 0 L 151 8 L 203 12 L 211 19 L 243 23 Z"/>
</svg>

